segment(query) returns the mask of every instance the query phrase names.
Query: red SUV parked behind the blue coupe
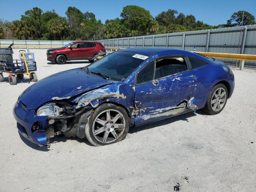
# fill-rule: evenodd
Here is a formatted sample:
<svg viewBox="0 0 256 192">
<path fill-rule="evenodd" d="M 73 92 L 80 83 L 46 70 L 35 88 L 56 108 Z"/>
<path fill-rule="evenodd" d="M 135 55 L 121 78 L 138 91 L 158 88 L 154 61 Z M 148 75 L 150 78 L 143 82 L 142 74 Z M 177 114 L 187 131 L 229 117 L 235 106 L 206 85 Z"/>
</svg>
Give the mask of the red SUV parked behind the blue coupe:
<svg viewBox="0 0 256 192">
<path fill-rule="evenodd" d="M 70 60 L 89 60 L 93 62 L 97 54 L 106 53 L 104 46 L 99 42 L 76 41 L 61 48 L 48 49 L 47 60 L 58 64 L 65 64 Z"/>
</svg>

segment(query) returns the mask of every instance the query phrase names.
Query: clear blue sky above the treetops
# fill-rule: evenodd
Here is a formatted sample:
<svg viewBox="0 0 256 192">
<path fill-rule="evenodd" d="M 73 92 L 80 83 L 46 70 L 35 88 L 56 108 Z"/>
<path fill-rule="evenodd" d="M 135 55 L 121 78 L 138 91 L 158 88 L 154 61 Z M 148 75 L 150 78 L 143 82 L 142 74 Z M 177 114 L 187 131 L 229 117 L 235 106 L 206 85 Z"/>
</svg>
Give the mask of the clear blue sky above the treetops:
<svg viewBox="0 0 256 192">
<path fill-rule="evenodd" d="M 35 6 L 44 12 L 54 9 L 65 16 L 67 8 L 75 6 L 82 12 L 93 12 L 104 23 L 106 19 L 120 17 L 126 5 L 144 7 L 154 17 L 162 11 L 174 9 L 186 15 L 193 14 L 197 20 L 211 25 L 226 23 L 238 10 L 246 10 L 256 17 L 256 0 L 0 0 L 0 20 L 20 19 L 21 14 Z"/>
</svg>

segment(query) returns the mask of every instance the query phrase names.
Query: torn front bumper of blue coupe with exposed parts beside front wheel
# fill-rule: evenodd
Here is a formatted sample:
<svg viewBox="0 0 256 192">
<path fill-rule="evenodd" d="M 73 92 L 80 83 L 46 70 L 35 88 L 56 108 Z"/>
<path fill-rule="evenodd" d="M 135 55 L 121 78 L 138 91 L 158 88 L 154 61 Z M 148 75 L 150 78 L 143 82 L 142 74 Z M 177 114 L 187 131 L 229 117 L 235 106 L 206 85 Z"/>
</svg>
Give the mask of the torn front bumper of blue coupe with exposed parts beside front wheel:
<svg viewBox="0 0 256 192">
<path fill-rule="evenodd" d="M 40 146 L 49 146 L 50 138 L 56 135 L 85 137 L 85 125 L 92 109 L 82 108 L 73 116 L 48 117 L 37 116 L 35 110 L 26 110 L 26 106 L 18 100 L 13 114 L 17 121 L 18 132 L 31 142 Z"/>
</svg>

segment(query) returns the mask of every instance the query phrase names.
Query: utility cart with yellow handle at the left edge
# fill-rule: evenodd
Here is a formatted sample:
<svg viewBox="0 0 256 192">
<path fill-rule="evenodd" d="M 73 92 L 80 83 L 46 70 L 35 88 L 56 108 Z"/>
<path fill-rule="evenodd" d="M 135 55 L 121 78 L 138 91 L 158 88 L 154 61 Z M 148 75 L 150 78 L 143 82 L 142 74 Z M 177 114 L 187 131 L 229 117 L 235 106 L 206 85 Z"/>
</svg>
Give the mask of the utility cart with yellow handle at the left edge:
<svg viewBox="0 0 256 192">
<path fill-rule="evenodd" d="M 29 75 L 32 82 L 37 81 L 36 61 L 34 53 L 19 51 L 20 60 L 13 60 L 12 50 L 13 44 L 8 48 L 0 48 L 0 82 L 4 81 L 3 73 L 8 73 L 8 81 L 11 85 L 16 85 L 16 77 L 20 80 L 24 78 L 24 74 Z"/>
</svg>

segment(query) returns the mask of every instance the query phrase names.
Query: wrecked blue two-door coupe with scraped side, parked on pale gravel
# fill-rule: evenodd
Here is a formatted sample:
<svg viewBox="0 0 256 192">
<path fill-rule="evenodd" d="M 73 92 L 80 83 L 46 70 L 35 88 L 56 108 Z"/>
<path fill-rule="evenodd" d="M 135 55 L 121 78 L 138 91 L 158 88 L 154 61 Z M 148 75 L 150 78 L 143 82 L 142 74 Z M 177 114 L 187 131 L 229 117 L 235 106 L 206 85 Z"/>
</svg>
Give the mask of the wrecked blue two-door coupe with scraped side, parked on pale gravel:
<svg viewBox="0 0 256 192">
<path fill-rule="evenodd" d="M 234 74 L 214 58 L 170 48 L 127 48 L 27 88 L 13 114 L 19 133 L 38 145 L 58 134 L 94 146 L 123 140 L 129 127 L 202 109 L 220 113 Z"/>
</svg>

